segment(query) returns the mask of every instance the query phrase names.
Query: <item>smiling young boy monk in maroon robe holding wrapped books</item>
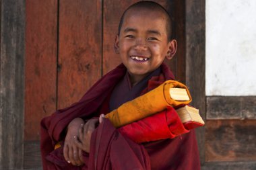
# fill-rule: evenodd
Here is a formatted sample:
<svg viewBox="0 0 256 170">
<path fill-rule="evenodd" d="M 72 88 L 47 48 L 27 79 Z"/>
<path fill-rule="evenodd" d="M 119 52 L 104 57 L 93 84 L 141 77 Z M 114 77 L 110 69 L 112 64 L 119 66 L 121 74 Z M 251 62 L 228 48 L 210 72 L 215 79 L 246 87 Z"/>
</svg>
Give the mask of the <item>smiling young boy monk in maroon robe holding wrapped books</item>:
<svg viewBox="0 0 256 170">
<path fill-rule="evenodd" d="M 171 115 L 164 119 L 172 138 L 140 144 L 125 135 L 136 130 L 138 122 L 117 130 L 102 116 L 174 79 L 164 64 L 164 58 L 171 59 L 177 50 L 171 37 L 170 16 L 158 3 L 141 1 L 123 13 L 115 38 L 115 52 L 123 64 L 79 102 L 42 120 L 44 169 L 200 169 L 195 132 L 185 130 L 173 108 L 164 111 Z M 99 116 L 98 125 L 93 117 Z M 187 133 L 174 138 L 178 131 Z M 61 147 L 56 148 L 59 141 Z"/>
</svg>

